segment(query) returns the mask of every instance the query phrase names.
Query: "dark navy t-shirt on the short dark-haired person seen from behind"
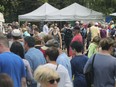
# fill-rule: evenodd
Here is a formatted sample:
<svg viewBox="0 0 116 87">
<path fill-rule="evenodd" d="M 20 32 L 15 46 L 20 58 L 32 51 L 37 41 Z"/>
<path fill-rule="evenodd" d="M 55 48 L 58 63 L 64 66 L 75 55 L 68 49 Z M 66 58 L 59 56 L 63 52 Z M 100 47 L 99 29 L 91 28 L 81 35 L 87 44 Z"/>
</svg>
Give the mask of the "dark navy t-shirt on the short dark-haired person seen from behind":
<svg viewBox="0 0 116 87">
<path fill-rule="evenodd" d="M 74 87 L 87 87 L 83 68 L 88 60 L 85 55 L 77 55 L 71 59 L 72 75 L 74 75 Z"/>
</svg>

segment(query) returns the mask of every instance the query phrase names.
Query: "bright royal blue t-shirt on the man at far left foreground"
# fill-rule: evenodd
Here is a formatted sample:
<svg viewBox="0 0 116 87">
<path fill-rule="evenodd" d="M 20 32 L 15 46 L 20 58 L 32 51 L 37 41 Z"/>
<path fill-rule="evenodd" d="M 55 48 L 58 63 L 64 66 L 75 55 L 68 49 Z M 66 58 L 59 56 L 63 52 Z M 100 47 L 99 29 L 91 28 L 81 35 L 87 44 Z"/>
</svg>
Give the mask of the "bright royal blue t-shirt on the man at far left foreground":
<svg viewBox="0 0 116 87">
<path fill-rule="evenodd" d="M 22 59 L 11 52 L 0 54 L 0 73 L 8 74 L 13 80 L 14 87 L 21 87 L 21 78 L 26 77 Z"/>
</svg>

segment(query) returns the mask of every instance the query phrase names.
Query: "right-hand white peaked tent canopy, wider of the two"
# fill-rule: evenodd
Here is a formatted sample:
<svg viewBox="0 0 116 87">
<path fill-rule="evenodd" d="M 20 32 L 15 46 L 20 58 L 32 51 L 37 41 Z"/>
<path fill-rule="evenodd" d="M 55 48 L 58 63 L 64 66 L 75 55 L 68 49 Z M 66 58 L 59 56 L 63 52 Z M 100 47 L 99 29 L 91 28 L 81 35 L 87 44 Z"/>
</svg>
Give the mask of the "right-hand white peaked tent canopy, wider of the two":
<svg viewBox="0 0 116 87">
<path fill-rule="evenodd" d="M 103 14 L 82 5 L 74 3 L 59 11 L 50 13 L 46 17 L 48 21 L 71 21 L 71 20 L 103 20 Z"/>
</svg>

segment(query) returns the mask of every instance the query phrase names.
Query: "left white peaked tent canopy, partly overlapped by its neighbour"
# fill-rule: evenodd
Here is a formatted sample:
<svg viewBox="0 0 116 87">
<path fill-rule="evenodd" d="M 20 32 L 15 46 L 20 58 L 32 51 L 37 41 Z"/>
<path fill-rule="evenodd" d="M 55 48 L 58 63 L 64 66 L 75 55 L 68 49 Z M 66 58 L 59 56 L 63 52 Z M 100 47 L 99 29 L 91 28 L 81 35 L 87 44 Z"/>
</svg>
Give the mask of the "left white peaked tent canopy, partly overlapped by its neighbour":
<svg viewBox="0 0 116 87">
<path fill-rule="evenodd" d="M 45 3 L 30 13 L 19 15 L 18 19 L 19 21 L 41 21 L 46 19 L 46 15 L 55 11 L 58 11 L 58 9 Z"/>
</svg>

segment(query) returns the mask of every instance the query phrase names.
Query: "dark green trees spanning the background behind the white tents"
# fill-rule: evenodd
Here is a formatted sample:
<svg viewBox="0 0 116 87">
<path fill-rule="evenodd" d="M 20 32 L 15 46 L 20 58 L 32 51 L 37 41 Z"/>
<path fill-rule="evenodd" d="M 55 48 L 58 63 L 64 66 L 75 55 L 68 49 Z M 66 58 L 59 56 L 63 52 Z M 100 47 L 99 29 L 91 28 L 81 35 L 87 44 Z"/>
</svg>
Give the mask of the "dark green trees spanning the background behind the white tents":
<svg viewBox="0 0 116 87">
<path fill-rule="evenodd" d="M 116 12 L 116 0 L 0 0 L 0 12 L 4 13 L 6 22 L 18 20 L 18 15 L 31 12 L 48 2 L 52 6 L 62 9 L 74 2 L 105 15 Z"/>
</svg>

